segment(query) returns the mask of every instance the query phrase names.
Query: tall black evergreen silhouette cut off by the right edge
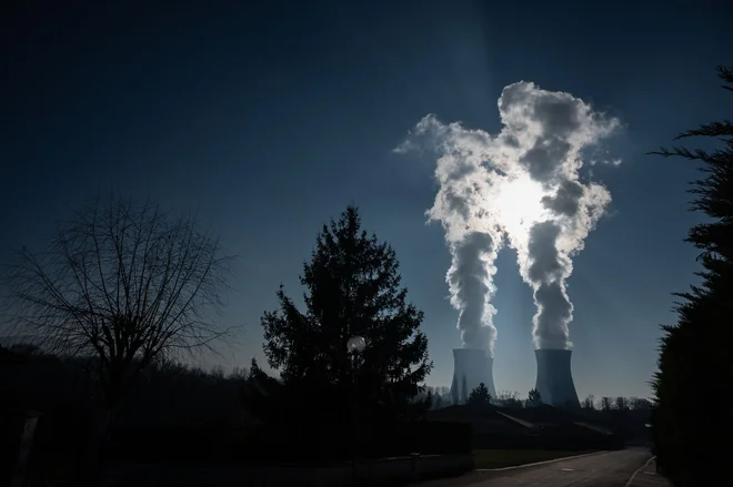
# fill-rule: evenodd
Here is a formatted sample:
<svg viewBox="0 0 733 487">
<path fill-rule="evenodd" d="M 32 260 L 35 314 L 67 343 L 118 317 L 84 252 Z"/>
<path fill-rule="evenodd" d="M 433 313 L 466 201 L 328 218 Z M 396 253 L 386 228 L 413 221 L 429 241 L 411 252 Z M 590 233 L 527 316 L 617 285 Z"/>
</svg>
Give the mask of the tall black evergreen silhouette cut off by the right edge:
<svg viewBox="0 0 733 487">
<path fill-rule="evenodd" d="M 733 68 L 717 68 L 723 88 L 733 91 Z M 653 152 L 665 158 L 681 156 L 702 163 L 705 174 L 693 183 L 692 211 L 707 216 L 690 230 L 686 242 L 700 248 L 702 283 L 686 293 L 675 293 L 681 302 L 674 325 L 663 326 L 659 372 L 654 375 L 654 444 L 659 465 L 677 486 L 713 485 L 727 475 L 722 445 L 733 433 L 733 412 L 727 402 L 701 403 L 701 379 L 705 394 L 733 396 L 733 123 L 730 120 L 700 125 L 675 140 L 705 136 L 723 142 L 706 151 L 686 148 Z M 699 473 L 713 484 L 705 484 Z"/>
</svg>

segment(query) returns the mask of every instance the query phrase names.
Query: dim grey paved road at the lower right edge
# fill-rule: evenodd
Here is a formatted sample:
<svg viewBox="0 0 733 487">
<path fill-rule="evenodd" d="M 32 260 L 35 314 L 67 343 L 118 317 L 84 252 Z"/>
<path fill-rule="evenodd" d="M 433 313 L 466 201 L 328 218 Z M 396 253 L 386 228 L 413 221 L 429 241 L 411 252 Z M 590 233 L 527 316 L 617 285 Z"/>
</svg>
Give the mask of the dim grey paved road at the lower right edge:
<svg viewBox="0 0 733 487">
<path fill-rule="evenodd" d="M 667 487 L 649 449 L 629 448 L 506 470 L 476 470 L 421 487 Z M 632 478 L 633 477 L 633 478 Z"/>
</svg>

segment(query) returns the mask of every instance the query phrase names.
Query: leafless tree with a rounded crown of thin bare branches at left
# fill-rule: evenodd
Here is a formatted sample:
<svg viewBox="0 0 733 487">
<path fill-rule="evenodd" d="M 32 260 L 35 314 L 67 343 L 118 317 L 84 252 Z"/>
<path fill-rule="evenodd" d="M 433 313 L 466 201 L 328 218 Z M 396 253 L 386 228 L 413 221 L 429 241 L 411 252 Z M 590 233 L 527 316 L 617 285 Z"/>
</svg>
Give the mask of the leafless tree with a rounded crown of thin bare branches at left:
<svg viewBox="0 0 733 487">
<path fill-rule="evenodd" d="M 43 253 L 9 266 L 10 317 L 62 355 L 97 358 L 101 406 L 111 413 L 147 365 L 202 348 L 227 329 L 221 307 L 231 257 L 194 219 L 119 195 L 60 222 Z"/>
</svg>

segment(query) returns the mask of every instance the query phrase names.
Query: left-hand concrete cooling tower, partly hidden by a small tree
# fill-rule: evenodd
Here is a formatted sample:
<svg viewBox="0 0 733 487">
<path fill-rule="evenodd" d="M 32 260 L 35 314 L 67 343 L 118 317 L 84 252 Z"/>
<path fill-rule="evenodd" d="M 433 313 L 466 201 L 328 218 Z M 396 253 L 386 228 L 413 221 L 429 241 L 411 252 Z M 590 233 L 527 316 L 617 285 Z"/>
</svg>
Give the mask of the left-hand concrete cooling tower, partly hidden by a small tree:
<svg viewBox="0 0 733 487">
<path fill-rule="evenodd" d="M 473 389 L 483 383 L 491 397 L 496 397 L 493 377 L 494 359 L 489 351 L 480 348 L 453 349 L 453 383 L 451 397 L 453 404 L 465 404 Z"/>
</svg>

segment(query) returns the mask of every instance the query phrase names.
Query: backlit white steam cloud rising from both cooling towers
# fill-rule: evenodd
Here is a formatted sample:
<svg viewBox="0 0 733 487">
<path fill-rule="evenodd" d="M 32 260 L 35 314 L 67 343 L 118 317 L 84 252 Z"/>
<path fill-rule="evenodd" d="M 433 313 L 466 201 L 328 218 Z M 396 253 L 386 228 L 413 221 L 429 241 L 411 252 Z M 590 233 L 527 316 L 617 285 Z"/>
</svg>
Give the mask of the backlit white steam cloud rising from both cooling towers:
<svg viewBox="0 0 733 487">
<path fill-rule="evenodd" d="M 428 216 L 445 230 L 452 254 L 446 281 L 463 346 L 493 353 L 494 261 L 506 242 L 534 292 L 535 346 L 569 348 L 572 256 L 611 202 L 604 186 L 580 181 L 582 151 L 612 134 L 619 121 L 569 93 L 523 81 L 503 89 L 499 113 L 496 135 L 428 115 L 395 151 L 426 145 L 439 153 L 440 191 Z"/>
</svg>

